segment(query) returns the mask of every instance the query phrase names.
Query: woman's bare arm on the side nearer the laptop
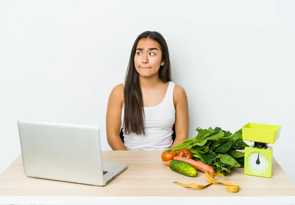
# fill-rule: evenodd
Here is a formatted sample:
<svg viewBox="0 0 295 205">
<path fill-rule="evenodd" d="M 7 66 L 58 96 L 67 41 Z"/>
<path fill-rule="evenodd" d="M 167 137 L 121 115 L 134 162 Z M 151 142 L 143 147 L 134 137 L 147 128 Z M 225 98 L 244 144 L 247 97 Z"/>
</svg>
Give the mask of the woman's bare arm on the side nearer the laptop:
<svg viewBox="0 0 295 205">
<path fill-rule="evenodd" d="M 122 84 L 113 88 L 107 108 L 107 140 L 113 150 L 127 150 L 119 133 L 121 130 L 121 113 L 124 102 L 124 86 Z"/>
</svg>

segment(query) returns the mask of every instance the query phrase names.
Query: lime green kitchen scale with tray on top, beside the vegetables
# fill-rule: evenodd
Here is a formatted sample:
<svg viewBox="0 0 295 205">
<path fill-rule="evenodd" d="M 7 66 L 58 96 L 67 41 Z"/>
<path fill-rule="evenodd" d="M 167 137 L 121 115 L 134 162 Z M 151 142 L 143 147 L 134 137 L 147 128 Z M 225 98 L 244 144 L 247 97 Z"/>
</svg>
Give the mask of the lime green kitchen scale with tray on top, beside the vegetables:
<svg viewBox="0 0 295 205">
<path fill-rule="evenodd" d="M 272 177 L 272 147 L 281 132 L 281 126 L 247 123 L 242 127 L 243 140 L 254 142 L 245 147 L 244 174 L 252 176 Z"/>
</svg>

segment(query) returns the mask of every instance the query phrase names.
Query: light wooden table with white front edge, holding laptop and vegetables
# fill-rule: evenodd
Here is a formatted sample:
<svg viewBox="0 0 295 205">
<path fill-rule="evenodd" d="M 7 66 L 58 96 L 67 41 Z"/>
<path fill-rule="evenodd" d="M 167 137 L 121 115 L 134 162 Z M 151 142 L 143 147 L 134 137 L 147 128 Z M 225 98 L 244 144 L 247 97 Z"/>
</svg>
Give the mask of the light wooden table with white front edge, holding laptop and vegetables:
<svg viewBox="0 0 295 205">
<path fill-rule="evenodd" d="M 240 186 L 237 193 L 225 185 L 202 190 L 184 188 L 174 181 L 206 185 L 203 172 L 188 177 L 172 171 L 161 160 L 161 151 L 103 151 L 103 160 L 128 164 L 128 168 L 104 187 L 26 177 L 21 155 L 0 176 L 0 204 L 224 204 L 295 205 L 295 185 L 273 160 L 273 177 L 243 174 L 233 169 L 225 180 Z M 216 177 L 221 180 L 221 177 Z"/>
</svg>

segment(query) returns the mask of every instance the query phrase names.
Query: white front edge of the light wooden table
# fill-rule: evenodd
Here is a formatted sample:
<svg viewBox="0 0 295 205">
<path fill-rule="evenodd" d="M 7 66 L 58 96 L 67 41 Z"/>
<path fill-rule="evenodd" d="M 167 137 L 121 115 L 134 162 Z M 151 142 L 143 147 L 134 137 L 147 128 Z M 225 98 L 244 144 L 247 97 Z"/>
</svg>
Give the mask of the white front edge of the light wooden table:
<svg viewBox="0 0 295 205">
<path fill-rule="evenodd" d="M 238 198 L 238 202 L 233 200 Z M 248 196 L 235 197 L 34 197 L 34 196 L 0 196 L 0 205 L 24 205 L 24 204 L 42 204 L 42 205 L 81 205 L 81 204 L 100 204 L 104 205 L 141 205 L 155 204 L 198 204 L 204 203 L 218 205 L 295 205 L 295 196 Z"/>
</svg>

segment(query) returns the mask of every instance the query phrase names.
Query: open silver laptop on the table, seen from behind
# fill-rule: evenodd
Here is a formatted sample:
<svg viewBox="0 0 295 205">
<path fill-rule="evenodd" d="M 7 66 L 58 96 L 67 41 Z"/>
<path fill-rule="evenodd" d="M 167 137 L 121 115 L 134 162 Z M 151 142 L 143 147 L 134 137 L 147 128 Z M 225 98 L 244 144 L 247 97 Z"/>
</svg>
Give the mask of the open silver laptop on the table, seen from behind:
<svg viewBox="0 0 295 205">
<path fill-rule="evenodd" d="M 96 126 L 18 120 L 28 177 L 105 186 L 127 164 L 103 162 Z"/>
</svg>

